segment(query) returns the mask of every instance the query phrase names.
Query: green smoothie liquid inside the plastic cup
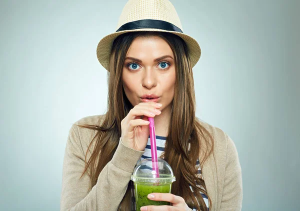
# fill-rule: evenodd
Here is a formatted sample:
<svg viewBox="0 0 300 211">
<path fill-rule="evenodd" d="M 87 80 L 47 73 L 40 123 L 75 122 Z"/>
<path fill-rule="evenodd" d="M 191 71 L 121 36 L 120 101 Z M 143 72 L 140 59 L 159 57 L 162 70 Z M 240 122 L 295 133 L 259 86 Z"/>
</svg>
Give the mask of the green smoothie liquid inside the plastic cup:
<svg viewBox="0 0 300 211">
<path fill-rule="evenodd" d="M 140 210 L 141 206 L 146 205 L 169 205 L 167 201 L 154 201 L 148 199 L 147 195 L 152 192 L 170 193 L 172 183 L 148 183 L 134 182 L 134 195 L 136 210 Z"/>
</svg>

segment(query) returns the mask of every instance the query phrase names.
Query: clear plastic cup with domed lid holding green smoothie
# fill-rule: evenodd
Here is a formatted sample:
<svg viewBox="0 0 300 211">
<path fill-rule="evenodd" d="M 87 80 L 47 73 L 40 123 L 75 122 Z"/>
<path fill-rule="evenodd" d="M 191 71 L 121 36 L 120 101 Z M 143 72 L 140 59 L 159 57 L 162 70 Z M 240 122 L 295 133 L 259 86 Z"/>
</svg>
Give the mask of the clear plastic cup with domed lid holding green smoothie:
<svg viewBox="0 0 300 211">
<path fill-rule="evenodd" d="M 157 158 L 159 177 L 152 170 L 151 158 L 141 160 L 135 166 L 131 180 L 134 183 L 136 210 L 146 205 L 169 205 L 167 201 L 154 201 L 147 198 L 152 192 L 170 193 L 172 182 L 175 181 L 170 165 L 163 159 Z"/>
</svg>

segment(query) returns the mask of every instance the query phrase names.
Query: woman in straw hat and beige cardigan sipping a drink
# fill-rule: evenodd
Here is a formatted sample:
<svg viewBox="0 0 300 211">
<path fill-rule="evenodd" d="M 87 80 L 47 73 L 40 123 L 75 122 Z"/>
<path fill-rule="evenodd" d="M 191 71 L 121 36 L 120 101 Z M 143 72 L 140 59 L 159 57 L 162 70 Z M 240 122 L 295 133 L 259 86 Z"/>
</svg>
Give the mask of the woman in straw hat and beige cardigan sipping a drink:
<svg viewBox="0 0 300 211">
<path fill-rule="evenodd" d="M 97 47 L 108 70 L 104 115 L 71 127 L 63 162 L 61 210 L 134 210 L 130 176 L 147 157 L 147 117 L 158 155 L 172 167 L 170 206 L 141 210 L 240 210 L 241 169 L 233 141 L 195 117 L 192 67 L 200 47 L 181 30 L 168 0 L 129 0 L 116 32 Z"/>
</svg>

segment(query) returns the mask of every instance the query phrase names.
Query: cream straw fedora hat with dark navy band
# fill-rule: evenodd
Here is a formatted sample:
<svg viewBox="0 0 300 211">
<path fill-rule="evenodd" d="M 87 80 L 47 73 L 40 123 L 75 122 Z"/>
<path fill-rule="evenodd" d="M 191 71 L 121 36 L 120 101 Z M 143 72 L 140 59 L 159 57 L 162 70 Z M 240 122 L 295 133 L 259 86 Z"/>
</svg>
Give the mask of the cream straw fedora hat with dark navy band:
<svg viewBox="0 0 300 211">
<path fill-rule="evenodd" d="M 128 0 L 115 32 L 103 37 L 97 45 L 97 58 L 105 69 L 108 70 L 113 40 L 118 35 L 131 31 L 164 31 L 176 34 L 187 44 L 192 67 L 200 58 L 201 49 L 198 42 L 183 33 L 178 14 L 169 0 Z"/>
</svg>

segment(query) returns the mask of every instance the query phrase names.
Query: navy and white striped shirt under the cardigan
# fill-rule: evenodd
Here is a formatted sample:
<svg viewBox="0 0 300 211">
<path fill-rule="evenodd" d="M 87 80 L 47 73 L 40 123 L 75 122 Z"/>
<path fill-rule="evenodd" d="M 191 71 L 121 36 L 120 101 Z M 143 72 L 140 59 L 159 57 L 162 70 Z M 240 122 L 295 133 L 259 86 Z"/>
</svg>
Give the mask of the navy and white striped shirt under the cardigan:
<svg viewBox="0 0 300 211">
<path fill-rule="evenodd" d="M 165 146 L 165 140 L 166 140 L 166 137 L 163 137 L 163 136 L 158 136 L 156 135 L 156 148 L 157 148 L 157 157 L 159 157 L 161 155 L 161 153 L 164 151 L 164 146 Z M 145 159 L 145 158 L 151 158 L 151 146 L 150 146 L 150 137 L 148 138 L 148 142 L 147 142 L 147 145 L 146 145 L 146 148 L 145 148 L 145 152 L 143 153 L 143 155 L 141 155 L 141 158 L 139 159 L 139 161 Z M 139 162 L 138 161 L 138 162 Z M 197 160 L 196 162 L 196 165 L 199 164 L 199 160 Z M 200 168 L 200 165 L 199 165 L 199 168 L 198 168 L 198 176 L 201 176 L 201 168 Z M 192 187 L 189 186 L 191 191 L 192 190 Z M 204 202 L 206 204 L 206 207 L 207 207 L 207 210 L 209 210 L 208 208 L 208 198 L 207 198 L 207 195 L 205 195 L 204 193 L 200 192 L 203 199 L 204 199 Z M 135 201 L 134 201 L 134 206 L 135 206 Z M 195 208 L 192 209 L 192 210 L 196 210 Z"/>
</svg>

